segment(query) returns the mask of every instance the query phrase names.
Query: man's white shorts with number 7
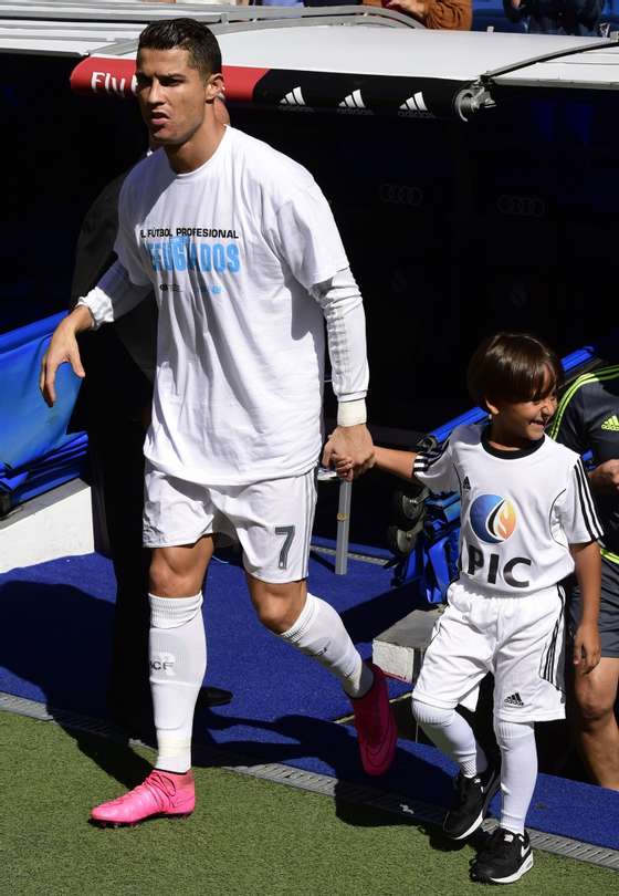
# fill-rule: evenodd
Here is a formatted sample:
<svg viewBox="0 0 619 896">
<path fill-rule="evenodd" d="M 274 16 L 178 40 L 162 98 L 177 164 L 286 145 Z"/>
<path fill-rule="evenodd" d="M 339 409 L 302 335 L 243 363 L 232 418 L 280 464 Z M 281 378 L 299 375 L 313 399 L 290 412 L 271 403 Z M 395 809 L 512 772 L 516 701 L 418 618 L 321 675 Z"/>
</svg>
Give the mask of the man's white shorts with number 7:
<svg viewBox="0 0 619 896">
<path fill-rule="evenodd" d="M 263 582 L 307 577 L 316 508 L 316 475 L 199 486 L 146 463 L 144 544 L 171 548 L 222 533 L 243 550 L 245 571 Z"/>
</svg>

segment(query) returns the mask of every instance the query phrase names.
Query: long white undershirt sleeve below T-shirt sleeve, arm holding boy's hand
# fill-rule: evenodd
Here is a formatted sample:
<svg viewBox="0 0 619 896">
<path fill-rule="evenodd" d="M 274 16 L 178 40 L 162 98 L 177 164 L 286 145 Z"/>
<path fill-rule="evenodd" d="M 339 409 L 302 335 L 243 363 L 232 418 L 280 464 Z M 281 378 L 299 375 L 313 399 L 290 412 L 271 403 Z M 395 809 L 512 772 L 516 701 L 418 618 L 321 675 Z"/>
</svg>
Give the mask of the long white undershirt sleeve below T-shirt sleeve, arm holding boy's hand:
<svg viewBox="0 0 619 896">
<path fill-rule="evenodd" d="M 369 382 L 366 317 L 359 288 L 350 268 L 337 271 L 310 290 L 323 310 L 332 366 L 333 390 L 339 402 L 338 424 L 365 423 Z"/>
</svg>

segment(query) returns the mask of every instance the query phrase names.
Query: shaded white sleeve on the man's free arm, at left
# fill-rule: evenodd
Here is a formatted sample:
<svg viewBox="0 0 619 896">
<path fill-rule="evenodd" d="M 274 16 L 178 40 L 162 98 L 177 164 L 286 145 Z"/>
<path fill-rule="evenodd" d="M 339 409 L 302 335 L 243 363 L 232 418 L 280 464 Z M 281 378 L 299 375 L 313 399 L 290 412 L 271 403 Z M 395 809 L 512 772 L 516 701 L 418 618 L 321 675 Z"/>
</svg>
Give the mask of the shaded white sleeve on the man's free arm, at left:
<svg viewBox="0 0 619 896">
<path fill-rule="evenodd" d="M 125 186 L 118 200 L 118 233 L 114 251 L 118 260 L 103 274 L 97 285 L 77 301 L 86 305 L 94 320 L 94 330 L 127 314 L 153 291 L 144 269 L 135 229 L 127 223 Z"/>
</svg>

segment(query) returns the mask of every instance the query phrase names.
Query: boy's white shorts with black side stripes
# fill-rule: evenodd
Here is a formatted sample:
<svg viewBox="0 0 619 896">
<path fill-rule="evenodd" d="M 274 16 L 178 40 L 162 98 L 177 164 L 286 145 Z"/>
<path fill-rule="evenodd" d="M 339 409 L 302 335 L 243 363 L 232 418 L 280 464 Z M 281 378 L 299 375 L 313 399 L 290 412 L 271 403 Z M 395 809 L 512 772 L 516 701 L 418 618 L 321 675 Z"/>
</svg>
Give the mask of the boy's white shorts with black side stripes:
<svg viewBox="0 0 619 896">
<path fill-rule="evenodd" d="M 415 698 L 443 709 L 471 707 L 470 698 L 491 671 L 495 719 L 564 718 L 564 604 L 560 585 L 506 597 L 453 582 L 426 650 Z"/>
</svg>

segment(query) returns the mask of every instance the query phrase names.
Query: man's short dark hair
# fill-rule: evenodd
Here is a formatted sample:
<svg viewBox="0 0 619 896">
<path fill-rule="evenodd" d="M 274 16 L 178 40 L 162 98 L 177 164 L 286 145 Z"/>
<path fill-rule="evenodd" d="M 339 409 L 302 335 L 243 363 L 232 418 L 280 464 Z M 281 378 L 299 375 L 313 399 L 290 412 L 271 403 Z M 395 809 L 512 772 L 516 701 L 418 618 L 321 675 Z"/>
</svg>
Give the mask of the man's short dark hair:
<svg viewBox="0 0 619 896">
<path fill-rule="evenodd" d="M 150 22 L 139 35 L 140 50 L 187 50 L 192 69 L 198 69 L 203 80 L 221 72 L 221 50 L 217 38 L 206 24 L 196 19 L 164 19 Z"/>
</svg>

